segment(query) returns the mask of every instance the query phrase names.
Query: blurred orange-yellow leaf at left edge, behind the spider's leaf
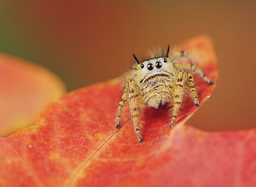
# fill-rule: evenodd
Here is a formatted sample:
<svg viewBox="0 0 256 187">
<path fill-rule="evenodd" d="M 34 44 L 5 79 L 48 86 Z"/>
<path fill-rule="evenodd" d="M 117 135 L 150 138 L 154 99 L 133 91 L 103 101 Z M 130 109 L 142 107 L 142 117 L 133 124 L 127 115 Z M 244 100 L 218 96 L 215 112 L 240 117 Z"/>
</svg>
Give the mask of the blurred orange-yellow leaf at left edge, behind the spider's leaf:
<svg viewBox="0 0 256 187">
<path fill-rule="evenodd" d="M 49 70 L 0 54 L 0 136 L 35 125 L 47 104 L 65 94 L 63 82 Z"/>
</svg>

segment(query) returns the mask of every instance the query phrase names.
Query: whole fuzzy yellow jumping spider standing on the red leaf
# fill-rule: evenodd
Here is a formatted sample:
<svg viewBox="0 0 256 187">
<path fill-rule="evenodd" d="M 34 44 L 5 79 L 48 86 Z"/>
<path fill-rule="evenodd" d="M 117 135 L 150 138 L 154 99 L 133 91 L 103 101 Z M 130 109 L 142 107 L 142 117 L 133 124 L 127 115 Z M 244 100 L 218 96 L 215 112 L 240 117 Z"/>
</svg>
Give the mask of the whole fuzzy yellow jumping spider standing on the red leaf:
<svg viewBox="0 0 256 187">
<path fill-rule="evenodd" d="M 194 71 L 208 84 L 213 82 L 205 76 L 203 71 L 196 66 L 186 51 L 166 54 L 144 61 L 139 61 L 133 54 L 136 62 L 129 75 L 119 102 L 116 128 L 120 126 L 122 109 L 126 102 L 129 103 L 134 130 L 139 142 L 142 142 L 142 121 L 139 119 L 143 106 L 158 108 L 160 104 L 168 104 L 170 108 L 170 128 L 175 125 L 186 89 L 196 107 L 199 106 L 198 95 L 194 85 L 194 78 L 190 73 Z M 180 57 L 186 57 L 191 64 L 178 63 Z"/>
</svg>

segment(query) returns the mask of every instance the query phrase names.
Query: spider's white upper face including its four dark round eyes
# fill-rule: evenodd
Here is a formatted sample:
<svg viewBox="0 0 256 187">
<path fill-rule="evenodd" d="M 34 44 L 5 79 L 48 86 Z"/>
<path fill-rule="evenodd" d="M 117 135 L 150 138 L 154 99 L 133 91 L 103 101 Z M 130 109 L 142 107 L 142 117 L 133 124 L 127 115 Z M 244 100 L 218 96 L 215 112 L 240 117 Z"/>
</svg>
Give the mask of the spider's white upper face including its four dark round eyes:
<svg viewBox="0 0 256 187">
<path fill-rule="evenodd" d="M 169 59 L 166 57 L 152 58 L 145 60 L 138 64 L 138 74 L 140 77 L 144 77 L 148 74 L 160 73 L 163 70 L 168 71 L 170 64 Z"/>
</svg>

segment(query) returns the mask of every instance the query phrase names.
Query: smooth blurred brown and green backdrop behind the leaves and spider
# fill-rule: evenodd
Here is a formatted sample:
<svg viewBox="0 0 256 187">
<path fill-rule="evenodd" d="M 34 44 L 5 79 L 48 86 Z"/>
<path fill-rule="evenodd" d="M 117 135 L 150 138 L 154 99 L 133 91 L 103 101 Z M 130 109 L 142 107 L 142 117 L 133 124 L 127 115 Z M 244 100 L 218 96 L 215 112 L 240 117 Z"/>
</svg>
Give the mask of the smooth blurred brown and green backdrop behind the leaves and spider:
<svg viewBox="0 0 256 187">
<path fill-rule="evenodd" d="M 0 1 L 0 51 L 46 67 L 67 90 L 120 76 L 132 53 L 206 34 L 219 77 L 187 122 L 256 127 L 256 1 Z"/>
</svg>

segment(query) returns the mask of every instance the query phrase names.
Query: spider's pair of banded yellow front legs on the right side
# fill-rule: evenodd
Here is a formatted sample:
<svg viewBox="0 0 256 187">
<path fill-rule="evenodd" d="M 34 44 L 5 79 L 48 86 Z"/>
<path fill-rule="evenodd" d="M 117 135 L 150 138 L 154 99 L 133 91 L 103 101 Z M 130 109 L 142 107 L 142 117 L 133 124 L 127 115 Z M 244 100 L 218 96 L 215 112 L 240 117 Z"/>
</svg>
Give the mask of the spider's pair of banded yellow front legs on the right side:
<svg viewBox="0 0 256 187">
<path fill-rule="evenodd" d="M 198 95 L 195 89 L 193 76 L 190 73 L 180 71 L 176 79 L 176 85 L 174 86 L 173 108 L 170 128 L 172 128 L 175 125 L 176 118 L 179 114 L 183 97 L 185 94 L 185 87 L 189 87 L 189 92 L 192 96 L 195 106 L 199 106 Z"/>
</svg>

